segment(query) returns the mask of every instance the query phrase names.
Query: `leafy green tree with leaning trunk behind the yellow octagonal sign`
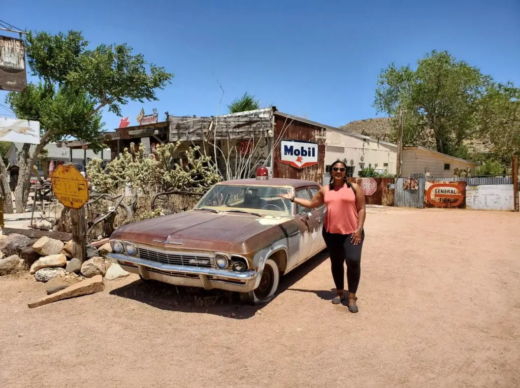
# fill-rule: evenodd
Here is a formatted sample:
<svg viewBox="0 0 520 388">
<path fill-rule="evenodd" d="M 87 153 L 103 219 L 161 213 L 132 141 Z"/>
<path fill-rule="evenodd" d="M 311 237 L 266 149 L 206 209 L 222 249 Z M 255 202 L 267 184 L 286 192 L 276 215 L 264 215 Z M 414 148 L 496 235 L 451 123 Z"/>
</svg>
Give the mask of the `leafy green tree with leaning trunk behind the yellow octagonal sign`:
<svg viewBox="0 0 520 388">
<path fill-rule="evenodd" d="M 121 106 L 129 100 L 157 100 L 155 90 L 173 77 L 153 63 L 147 70 L 144 56 L 132 54 L 126 44 L 88 46 L 79 31 L 30 32 L 25 38 L 28 64 L 39 82 L 9 93 L 6 102 L 20 119 L 40 121 L 41 143 L 25 144 L 19 154 L 17 212 L 25 211 L 31 166 L 46 144 L 72 136 L 99 150 L 103 108 L 121 115 Z M 0 175 L 7 179 L 3 171 Z"/>
</svg>

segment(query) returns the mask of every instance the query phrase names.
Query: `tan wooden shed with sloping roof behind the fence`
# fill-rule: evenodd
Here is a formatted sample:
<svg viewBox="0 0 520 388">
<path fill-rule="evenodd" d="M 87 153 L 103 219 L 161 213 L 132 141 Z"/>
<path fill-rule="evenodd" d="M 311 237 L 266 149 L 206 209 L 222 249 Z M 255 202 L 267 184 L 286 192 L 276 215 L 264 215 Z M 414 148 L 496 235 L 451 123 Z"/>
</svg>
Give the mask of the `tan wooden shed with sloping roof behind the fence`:
<svg viewBox="0 0 520 388">
<path fill-rule="evenodd" d="M 476 162 L 456 158 L 424 147 L 402 147 L 401 176 L 430 173 L 432 177 L 451 178 L 454 170 L 469 167 L 475 175 Z"/>
</svg>

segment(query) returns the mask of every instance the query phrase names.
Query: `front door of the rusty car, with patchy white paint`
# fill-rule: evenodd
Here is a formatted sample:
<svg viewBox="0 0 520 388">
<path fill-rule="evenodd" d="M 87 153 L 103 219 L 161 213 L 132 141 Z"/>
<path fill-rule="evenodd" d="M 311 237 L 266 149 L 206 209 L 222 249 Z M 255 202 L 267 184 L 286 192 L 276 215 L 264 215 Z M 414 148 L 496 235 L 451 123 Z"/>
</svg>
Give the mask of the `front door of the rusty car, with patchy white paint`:
<svg viewBox="0 0 520 388">
<path fill-rule="evenodd" d="M 297 189 L 296 198 L 310 200 L 311 192 L 308 188 Z M 316 235 L 319 234 L 321 236 L 321 220 L 318 218 L 318 214 L 319 212 L 315 210 L 296 204 L 295 219 L 298 227 L 300 227 L 300 255 L 298 256 L 297 264 L 302 263 L 316 253 Z"/>
</svg>

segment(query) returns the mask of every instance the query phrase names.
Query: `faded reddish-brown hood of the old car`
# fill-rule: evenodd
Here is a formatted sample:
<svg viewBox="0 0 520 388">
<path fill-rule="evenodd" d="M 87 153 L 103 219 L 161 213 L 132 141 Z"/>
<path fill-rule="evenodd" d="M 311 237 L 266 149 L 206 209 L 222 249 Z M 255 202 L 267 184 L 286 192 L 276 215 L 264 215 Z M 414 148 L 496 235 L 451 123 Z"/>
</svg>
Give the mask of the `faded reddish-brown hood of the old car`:
<svg viewBox="0 0 520 388">
<path fill-rule="evenodd" d="M 168 249 L 228 252 L 231 243 L 254 238 L 284 221 L 287 218 L 188 211 L 124 225 L 111 238 Z"/>
</svg>

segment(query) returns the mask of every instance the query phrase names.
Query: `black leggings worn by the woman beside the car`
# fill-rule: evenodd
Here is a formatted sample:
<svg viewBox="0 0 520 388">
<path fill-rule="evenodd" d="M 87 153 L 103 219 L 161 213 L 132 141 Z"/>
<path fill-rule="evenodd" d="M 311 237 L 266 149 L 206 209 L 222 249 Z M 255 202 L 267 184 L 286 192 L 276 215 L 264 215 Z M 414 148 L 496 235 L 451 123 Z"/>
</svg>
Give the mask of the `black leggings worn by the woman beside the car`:
<svg viewBox="0 0 520 388">
<path fill-rule="evenodd" d="M 346 261 L 348 292 L 355 294 L 361 276 L 361 249 L 365 240 L 365 231 L 362 232 L 361 241 L 357 245 L 352 243 L 352 235 L 329 233 L 325 228 L 322 234 L 330 254 L 332 277 L 336 289 L 343 290 L 345 287 L 343 263 Z"/>
</svg>

